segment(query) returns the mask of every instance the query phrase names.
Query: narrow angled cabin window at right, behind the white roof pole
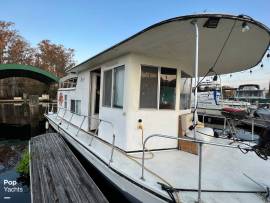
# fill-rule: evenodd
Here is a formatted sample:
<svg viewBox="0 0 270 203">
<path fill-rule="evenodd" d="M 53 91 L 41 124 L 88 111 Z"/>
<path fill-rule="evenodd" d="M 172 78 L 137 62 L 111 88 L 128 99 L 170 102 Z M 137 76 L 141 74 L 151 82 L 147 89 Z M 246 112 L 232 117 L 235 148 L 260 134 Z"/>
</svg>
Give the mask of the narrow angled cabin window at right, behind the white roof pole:
<svg viewBox="0 0 270 203">
<path fill-rule="evenodd" d="M 180 86 L 180 109 L 190 109 L 192 78 L 189 74 L 181 71 Z"/>
</svg>

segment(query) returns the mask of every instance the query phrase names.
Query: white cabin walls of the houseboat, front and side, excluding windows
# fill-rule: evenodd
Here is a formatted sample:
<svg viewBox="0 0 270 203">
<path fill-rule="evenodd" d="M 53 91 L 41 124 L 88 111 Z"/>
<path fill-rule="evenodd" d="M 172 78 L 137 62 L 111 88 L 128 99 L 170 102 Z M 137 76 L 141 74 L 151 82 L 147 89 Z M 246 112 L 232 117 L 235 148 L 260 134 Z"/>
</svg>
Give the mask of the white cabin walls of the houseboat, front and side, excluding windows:
<svg viewBox="0 0 270 203">
<path fill-rule="evenodd" d="M 169 68 L 177 68 L 177 85 L 176 85 L 176 109 L 175 110 L 157 110 L 157 109 L 139 109 L 140 101 L 140 71 L 141 65 L 164 66 Z M 124 82 L 124 100 L 123 109 L 102 106 L 103 95 L 103 72 L 121 65 L 125 65 L 125 82 Z M 190 110 L 179 110 L 180 107 L 180 79 L 181 66 L 178 62 L 142 56 L 138 54 L 127 54 L 117 59 L 106 62 L 97 68 L 101 68 L 101 84 L 100 84 L 100 111 L 99 118 L 110 121 L 114 125 L 116 135 L 115 144 L 119 148 L 126 151 L 141 150 L 141 130 L 137 128 L 138 119 L 143 120 L 144 139 L 152 134 L 164 134 L 178 136 L 178 118 L 179 115 L 188 113 Z M 192 74 L 192 70 L 184 70 L 188 74 Z M 78 82 L 76 89 L 63 90 L 59 89 L 59 93 L 68 95 L 67 108 L 70 110 L 70 100 L 81 100 L 81 114 L 89 115 L 90 100 L 90 70 L 85 70 L 78 74 Z M 64 106 L 64 102 L 62 107 Z M 67 113 L 65 118 L 68 120 L 70 115 Z M 73 116 L 72 123 L 77 126 L 82 121 L 81 117 Z M 88 120 L 86 119 L 83 129 L 88 130 Z M 112 142 L 112 128 L 110 125 L 102 123 L 100 125 L 98 136 L 105 141 Z M 177 141 L 154 138 L 147 144 L 148 148 L 176 148 Z"/>
</svg>

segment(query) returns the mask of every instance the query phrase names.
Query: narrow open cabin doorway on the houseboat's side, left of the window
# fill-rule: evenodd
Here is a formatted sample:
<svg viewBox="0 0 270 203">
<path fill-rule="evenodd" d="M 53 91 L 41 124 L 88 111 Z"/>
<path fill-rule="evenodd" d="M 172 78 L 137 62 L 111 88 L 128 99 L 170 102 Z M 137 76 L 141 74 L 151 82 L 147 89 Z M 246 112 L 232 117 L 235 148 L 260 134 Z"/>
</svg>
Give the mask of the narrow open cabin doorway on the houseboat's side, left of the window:
<svg viewBox="0 0 270 203">
<path fill-rule="evenodd" d="M 95 130 L 98 127 L 98 120 L 94 118 L 99 118 L 99 98 L 100 98 L 100 72 L 92 71 L 90 72 L 91 78 L 91 92 L 90 92 L 90 130 Z"/>
</svg>

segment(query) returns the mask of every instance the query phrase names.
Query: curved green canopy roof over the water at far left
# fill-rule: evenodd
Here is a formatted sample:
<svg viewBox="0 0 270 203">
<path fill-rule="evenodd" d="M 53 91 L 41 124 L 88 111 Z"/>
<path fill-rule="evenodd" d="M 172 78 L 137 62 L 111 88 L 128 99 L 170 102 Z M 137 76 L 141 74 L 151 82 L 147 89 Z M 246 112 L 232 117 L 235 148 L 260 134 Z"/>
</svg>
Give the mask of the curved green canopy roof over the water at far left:
<svg viewBox="0 0 270 203">
<path fill-rule="evenodd" d="M 0 79 L 9 77 L 32 78 L 46 84 L 59 81 L 59 78 L 54 74 L 34 66 L 21 64 L 0 64 Z"/>
</svg>

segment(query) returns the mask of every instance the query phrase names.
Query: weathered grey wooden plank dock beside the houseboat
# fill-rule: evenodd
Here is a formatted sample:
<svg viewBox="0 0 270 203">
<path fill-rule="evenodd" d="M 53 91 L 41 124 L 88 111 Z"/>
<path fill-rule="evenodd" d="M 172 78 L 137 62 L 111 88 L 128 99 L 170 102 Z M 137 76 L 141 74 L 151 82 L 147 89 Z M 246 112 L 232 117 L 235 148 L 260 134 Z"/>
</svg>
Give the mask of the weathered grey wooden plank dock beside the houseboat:
<svg viewBox="0 0 270 203">
<path fill-rule="evenodd" d="M 79 160 L 57 133 L 30 140 L 32 203 L 107 203 Z"/>
</svg>

